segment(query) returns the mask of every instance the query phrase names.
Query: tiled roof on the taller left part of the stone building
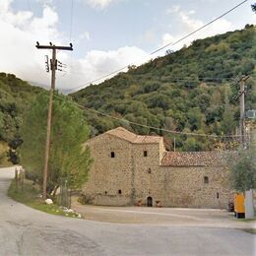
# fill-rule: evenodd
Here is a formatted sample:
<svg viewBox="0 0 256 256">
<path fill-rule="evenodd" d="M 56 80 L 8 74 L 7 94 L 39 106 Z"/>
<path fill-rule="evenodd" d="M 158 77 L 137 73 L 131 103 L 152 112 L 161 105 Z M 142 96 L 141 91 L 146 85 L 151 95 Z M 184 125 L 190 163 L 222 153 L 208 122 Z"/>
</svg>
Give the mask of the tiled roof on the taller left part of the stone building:
<svg viewBox="0 0 256 256">
<path fill-rule="evenodd" d="M 106 134 L 110 134 L 120 139 L 129 141 L 131 143 L 138 143 L 138 144 L 160 143 L 160 140 L 162 139 L 160 136 L 136 135 L 124 129 L 123 127 L 117 127 L 113 130 L 107 131 Z"/>
</svg>

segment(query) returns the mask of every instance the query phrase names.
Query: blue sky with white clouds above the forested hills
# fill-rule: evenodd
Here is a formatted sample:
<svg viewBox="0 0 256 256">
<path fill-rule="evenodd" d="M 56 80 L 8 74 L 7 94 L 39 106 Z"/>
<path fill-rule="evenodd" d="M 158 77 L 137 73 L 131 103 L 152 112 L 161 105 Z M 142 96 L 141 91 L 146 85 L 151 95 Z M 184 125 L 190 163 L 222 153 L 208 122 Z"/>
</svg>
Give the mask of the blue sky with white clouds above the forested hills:
<svg viewBox="0 0 256 256">
<path fill-rule="evenodd" d="M 140 65 L 178 50 L 197 38 L 241 30 L 256 24 L 247 1 L 224 18 L 156 54 L 151 52 L 221 16 L 242 0 L 0 0 L 0 72 L 50 86 L 45 55 L 35 48 L 73 44 L 58 51 L 66 68 L 56 75 L 56 89 L 72 93 L 127 65 Z M 106 77 L 106 78 L 110 78 Z M 99 80 L 98 80 L 99 79 Z"/>
</svg>

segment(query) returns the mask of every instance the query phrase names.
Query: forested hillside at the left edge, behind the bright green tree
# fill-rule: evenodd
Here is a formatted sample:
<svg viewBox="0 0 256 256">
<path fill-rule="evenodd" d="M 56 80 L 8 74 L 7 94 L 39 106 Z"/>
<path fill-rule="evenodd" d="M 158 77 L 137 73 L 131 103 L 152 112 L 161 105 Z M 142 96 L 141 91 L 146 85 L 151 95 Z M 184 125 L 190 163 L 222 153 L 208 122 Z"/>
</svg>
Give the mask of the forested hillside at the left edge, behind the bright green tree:
<svg viewBox="0 0 256 256">
<path fill-rule="evenodd" d="M 42 91 L 41 88 L 32 87 L 16 78 L 15 75 L 0 73 L 0 161 L 6 156 L 4 150 L 7 145 L 11 147 L 9 154 L 15 161 L 13 150 L 22 142 L 19 128 L 23 122 L 23 113 L 32 98 Z"/>
</svg>

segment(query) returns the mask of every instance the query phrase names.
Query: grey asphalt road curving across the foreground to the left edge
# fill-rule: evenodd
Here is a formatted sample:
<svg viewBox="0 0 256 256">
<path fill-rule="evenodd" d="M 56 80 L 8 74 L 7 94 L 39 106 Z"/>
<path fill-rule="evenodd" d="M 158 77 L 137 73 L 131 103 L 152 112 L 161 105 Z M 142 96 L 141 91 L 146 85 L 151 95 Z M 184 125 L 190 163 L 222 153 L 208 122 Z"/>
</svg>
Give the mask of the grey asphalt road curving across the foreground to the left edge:
<svg viewBox="0 0 256 256">
<path fill-rule="evenodd" d="M 0 255 L 255 255 L 255 235 L 240 229 L 47 215 L 6 196 L 13 175 L 0 169 Z"/>
</svg>

